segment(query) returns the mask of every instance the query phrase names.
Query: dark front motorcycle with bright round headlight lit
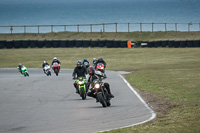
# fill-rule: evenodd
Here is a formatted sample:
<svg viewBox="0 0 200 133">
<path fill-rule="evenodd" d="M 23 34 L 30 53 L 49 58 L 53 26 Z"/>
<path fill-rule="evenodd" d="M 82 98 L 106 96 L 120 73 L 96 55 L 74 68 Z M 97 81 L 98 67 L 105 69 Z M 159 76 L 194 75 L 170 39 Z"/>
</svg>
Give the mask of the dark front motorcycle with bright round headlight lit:
<svg viewBox="0 0 200 133">
<path fill-rule="evenodd" d="M 98 72 L 98 79 L 93 81 L 94 87 L 93 90 L 95 91 L 95 95 L 97 96 L 97 102 L 100 102 L 103 107 L 110 106 L 110 97 L 107 89 L 104 87 L 104 83 L 102 79 L 104 78 L 103 73 Z"/>
</svg>

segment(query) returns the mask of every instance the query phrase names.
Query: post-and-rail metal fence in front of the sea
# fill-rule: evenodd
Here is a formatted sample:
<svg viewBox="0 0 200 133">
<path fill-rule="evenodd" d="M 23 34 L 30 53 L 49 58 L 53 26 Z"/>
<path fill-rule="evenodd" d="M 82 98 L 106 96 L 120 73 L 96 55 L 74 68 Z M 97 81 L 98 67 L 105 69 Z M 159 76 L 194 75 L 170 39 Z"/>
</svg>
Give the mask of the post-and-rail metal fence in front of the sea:
<svg viewBox="0 0 200 133">
<path fill-rule="evenodd" d="M 0 26 L 0 33 L 200 31 L 200 23 L 103 23 Z"/>
</svg>

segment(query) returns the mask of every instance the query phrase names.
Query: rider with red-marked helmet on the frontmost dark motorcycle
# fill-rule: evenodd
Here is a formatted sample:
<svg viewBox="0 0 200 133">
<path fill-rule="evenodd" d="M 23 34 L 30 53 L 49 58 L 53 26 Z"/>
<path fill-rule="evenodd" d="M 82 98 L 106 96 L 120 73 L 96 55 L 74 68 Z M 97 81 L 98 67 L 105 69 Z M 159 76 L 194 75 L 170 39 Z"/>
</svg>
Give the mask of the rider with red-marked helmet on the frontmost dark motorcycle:
<svg viewBox="0 0 200 133">
<path fill-rule="evenodd" d="M 94 81 L 95 79 L 98 79 L 99 77 L 95 74 L 95 70 L 94 70 L 93 67 L 89 67 L 88 73 L 89 73 L 89 75 L 90 75 L 90 77 L 89 77 L 89 79 L 88 79 L 88 87 L 89 87 L 90 85 L 91 85 L 91 87 L 92 87 L 92 86 L 94 86 L 94 85 L 93 85 L 93 81 Z M 110 98 L 114 98 L 113 94 L 112 94 L 111 91 L 110 91 L 110 85 L 109 85 L 107 82 L 105 82 L 105 83 L 103 84 L 103 86 L 104 86 L 104 87 L 106 88 L 106 90 L 108 91 L 108 94 L 109 94 Z M 90 97 L 93 97 L 93 98 L 97 98 L 97 96 L 96 96 L 94 93 L 95 93 L 95 91 L 93 90 L 93 88 L 91 88 L 91 89 L 89 89 L 87 95 L 90 96 Z M 96 100 L 98 100 L 98 99 L 96 99 Z M 97 101 L 97 102 L 98 102 L 98 101 Z"/>
</svg>

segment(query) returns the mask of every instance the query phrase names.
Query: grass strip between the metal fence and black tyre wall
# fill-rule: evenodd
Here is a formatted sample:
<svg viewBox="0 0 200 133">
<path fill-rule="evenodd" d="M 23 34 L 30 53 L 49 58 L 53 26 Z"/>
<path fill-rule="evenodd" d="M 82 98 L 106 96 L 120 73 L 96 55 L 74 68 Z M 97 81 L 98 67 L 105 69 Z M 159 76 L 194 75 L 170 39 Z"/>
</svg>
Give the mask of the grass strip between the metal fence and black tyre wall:
<svg viewBox="0 0 200 133">
<path fill-rule="evenodd" d="M 41 34 L 0 34 L 0 40 L 199 40 L 200 32 L 59 32 Z"/>
</svg>

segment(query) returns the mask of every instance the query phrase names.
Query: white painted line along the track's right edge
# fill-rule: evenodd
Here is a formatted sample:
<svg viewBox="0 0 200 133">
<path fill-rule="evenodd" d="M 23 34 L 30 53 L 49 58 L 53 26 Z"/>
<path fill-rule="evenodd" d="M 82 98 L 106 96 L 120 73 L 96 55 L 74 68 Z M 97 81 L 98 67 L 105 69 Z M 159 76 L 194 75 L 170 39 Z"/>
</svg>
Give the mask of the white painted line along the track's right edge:
<svg viewBox="0 0 200 133">
<path fill-rule="evenodd" d="M 119 76 L 124 80 L 124 82 L 127 84 L 127 86 L 133 91 L 133 93 L 140 99 L 140 101 L 144 104 L 144 106 L 150 111 L 151 113 L 151 117 L 145 121 L 139 122 L 139 123 L 135 123 L 132 125 L 128 125 L 128 126 L 123 126 L 123 127 L 119 127 L 119 128 L 113 128 L 113 129 L 108 129 L 108 130 L 104 130 L 104 131 L 98 131 L 98 132 L 105 132 L 105 131 L 111 131 L 111 130 L 115 130 L 115 129 L 121 129 L 121 128 L 126 128 L 126 127 L 132 127 L 132 126 L 136 126 L 136 125 L 140 125 L 140 124 L 144 124 L 146 122 L 149 122 L 151 120 L 153 120 L 154 118 L 156 118 L 156 113 L 151 109 L 151 107 L 149 107 L 149 105 L 142 99 L 142 97 L 137 93 L 137 91 L 135 91 L 135 89 L 128 83 L 128 81 L 121 75 L 119 74 Z"/>
</svg>

